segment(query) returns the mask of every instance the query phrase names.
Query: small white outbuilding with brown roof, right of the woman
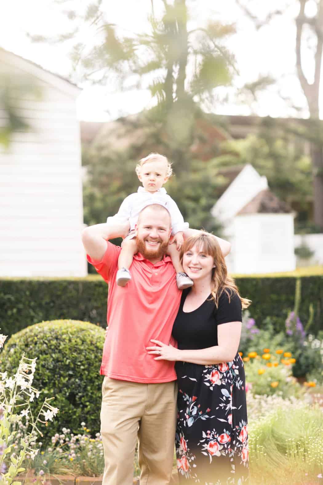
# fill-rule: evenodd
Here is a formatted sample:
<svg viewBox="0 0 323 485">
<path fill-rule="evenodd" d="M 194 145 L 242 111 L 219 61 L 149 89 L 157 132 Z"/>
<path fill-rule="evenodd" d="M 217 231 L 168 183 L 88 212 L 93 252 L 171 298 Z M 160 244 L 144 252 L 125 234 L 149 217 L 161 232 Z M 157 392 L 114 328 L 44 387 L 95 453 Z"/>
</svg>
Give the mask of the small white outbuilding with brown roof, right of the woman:
<svg viewBox="0 0 323 485">
<path fill-rule="evenodd" d="M 295 269 L 294 213 L 268 188 L 267 178 L 247 164 L 213 206 L 212 215 L 232 243 L 231 273 Z"/>
</svg>

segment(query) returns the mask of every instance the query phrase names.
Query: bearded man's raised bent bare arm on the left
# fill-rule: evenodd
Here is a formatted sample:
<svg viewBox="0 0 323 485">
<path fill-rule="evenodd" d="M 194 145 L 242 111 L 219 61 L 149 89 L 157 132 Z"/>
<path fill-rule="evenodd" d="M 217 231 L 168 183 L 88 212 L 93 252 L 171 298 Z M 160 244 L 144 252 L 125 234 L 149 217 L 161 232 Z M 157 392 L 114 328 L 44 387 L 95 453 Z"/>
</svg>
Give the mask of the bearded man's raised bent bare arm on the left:
<svg viewBox="0 0 323 485">
<path fill-rule="evenodd" d="M 126 237 L 129 232 L 129 222 L 120 224 L 96 224 L 85 227 L 82 232 L 82 242 L 87 254 L 99 262 L 107 250 L 107 241 L 118 237 Z"/>
</svg>

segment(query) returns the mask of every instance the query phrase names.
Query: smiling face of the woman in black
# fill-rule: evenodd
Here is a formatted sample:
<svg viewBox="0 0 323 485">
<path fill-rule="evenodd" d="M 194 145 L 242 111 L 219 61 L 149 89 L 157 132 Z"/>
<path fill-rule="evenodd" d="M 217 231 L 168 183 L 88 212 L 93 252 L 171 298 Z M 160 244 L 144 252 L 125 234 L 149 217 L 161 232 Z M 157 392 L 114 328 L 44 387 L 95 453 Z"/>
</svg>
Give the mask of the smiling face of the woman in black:
<svg viewBox="0 0 323 485">
<path fill-rule="evenodd" d="M 214 260 L 203 251 L 203 246 L 193 246 L 183 254 L 183 269 L 193 281 L 210 278 Z"/>
</svg>

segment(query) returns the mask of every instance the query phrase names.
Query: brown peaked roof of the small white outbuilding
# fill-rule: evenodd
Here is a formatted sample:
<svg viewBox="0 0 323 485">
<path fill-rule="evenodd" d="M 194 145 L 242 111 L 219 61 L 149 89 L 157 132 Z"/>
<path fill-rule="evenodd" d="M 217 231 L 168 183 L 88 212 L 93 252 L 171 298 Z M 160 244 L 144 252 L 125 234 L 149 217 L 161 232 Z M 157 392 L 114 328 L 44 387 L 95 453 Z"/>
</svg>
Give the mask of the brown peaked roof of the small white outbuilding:
<svg viewBox="0 0 323 485">
<path fill-rule="evenodd" d="M 291 208 L 278 199 L 269 189 L 260 191 L 255 197 L 248 202 L 237 215 L 245 214 L 265 214 L 265 213 L 290 213 Z"/>
</svg>

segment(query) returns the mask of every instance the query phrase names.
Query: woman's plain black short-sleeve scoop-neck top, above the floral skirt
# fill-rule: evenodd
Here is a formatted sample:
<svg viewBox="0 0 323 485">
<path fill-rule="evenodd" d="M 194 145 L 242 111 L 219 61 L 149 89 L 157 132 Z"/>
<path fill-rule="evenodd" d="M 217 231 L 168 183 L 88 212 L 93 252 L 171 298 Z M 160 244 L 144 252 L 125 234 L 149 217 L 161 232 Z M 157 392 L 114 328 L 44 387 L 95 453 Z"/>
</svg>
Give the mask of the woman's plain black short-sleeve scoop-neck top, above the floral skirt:
<svg viewBox="0 0 323 485">
<path fill-rule="evenodd" d="M 173 337 L 178 342 L 180 350 L 206 349 L 218 345 L 217 327 L 222 323 L 242 322 L 241 300 L 237 293 L 223 291 L 218 308 L 212 295 L 204 303 L 190 312 L 184 312 L 183 306 L 190 289 L 182 293 L 180 307 L 173 325 Z"/>
</svg>

